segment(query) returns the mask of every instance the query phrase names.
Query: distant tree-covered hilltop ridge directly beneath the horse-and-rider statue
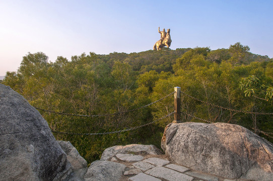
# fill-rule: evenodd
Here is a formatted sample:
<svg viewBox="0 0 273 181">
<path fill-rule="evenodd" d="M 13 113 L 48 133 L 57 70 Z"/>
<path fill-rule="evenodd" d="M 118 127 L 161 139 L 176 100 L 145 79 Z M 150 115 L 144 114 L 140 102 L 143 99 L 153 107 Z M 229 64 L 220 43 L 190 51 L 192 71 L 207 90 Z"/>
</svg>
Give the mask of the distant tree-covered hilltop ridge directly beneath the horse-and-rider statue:
<svg viewBox="0 0 273 181">
<path fill-rule="evenodd" d="M 187 51 L 194 51 L 191 48 L 177 48 L 171 50 L 163 48 L 162 51 L 148 50 L 140 53 L 110 53 L 109 55 L 97 55 L 99 59 L 113 65 L 114 61 L 120 60 L 131 65 L 134 71 L 140 73 L 155 70 L 158 73 L 161 71 L 174 72 L 172 65 L 176 63 L 176 59 L 181 57 Z M 233 63 L 249 64 L 253 61 L 269 61 L 268 56 L 257 55 L 249 52 L 248 46 L 243 46 L 240 43 L 231 45 L 229 49 L 211 50 L 210 48 L 195 48 L 195 52 L 204 50 L 206 60 L 210 62 L 221 63 L 222 61 L 230 60 Z M 231 59 L 232 58 L 232 59 Z M 238 60 L 238 62 L 236 62 Z"/>
</svg>

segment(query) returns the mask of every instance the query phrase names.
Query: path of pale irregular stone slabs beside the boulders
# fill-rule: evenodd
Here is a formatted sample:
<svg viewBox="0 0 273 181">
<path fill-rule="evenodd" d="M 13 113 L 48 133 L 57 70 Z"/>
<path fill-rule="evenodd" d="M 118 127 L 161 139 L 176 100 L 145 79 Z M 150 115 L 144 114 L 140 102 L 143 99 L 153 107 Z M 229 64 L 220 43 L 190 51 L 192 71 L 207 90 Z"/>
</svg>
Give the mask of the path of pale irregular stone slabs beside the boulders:
<svg viewBox="0 0 273 181">
<path fill-rule="evenodd" d="M 118 154 L 114 162 L 126 165 L 120 181 L 235 181 L 171 163 L 165 155 Z"/>
</svg>

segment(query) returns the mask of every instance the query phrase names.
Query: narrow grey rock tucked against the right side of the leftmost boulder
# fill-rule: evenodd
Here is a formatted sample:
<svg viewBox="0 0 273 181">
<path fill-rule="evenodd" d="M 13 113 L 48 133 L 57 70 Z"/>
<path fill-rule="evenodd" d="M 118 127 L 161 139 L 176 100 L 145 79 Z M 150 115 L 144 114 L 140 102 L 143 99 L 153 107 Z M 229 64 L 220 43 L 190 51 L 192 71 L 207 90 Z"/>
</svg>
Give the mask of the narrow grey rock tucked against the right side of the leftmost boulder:
<svg viewBox="0 0 273 181">
<path fill-rule="evenodd" d="M 80 155 L 78 150 L 71 144 L 70 141 L 57 141 L 62 150 L 67 155 L 67 160 L 72 165 L 73 174 L 70 181 L 84 180 L 84 175 L 87 172 L 87 161 Z"/>
</svg>

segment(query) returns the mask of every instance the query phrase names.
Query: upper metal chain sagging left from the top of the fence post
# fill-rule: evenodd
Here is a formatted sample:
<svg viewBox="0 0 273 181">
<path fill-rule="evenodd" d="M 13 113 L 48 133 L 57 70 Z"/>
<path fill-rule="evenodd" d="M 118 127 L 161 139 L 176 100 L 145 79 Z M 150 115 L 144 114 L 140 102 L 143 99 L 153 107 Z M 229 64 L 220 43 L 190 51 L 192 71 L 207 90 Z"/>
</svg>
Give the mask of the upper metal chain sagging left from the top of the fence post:
<svg viewBox="0 0 273 181">
<path fill-rule="evenodd" d="M 137 110 L 139 110 L 139 109 L 146 108 L 146 107 L 148 107 L 148 106 L 151 106 L 151 105 L 153 105 L 153 104 L 155 104 L 155 103 L 157 103 L 157 102 L 159 102 L 159 101 L 161 101 L 161 100 L 163 100 L 163 99 L 165 99 L 165 98 L 167 98 L 167 97 L 173 95 L 174 93 L 175 93 L 175 92 L 172 92 L 172 93 L 168 94 L 167 96 L 165 96 L 165 97 L 163 97 L 163 98 L 161 98 L 161 99 L 159 99 L 159 100 L 157 100 L 157 101 L 155 101 L 155 102 L 153 102 L 153 103 L 150 103 L 150 104 L 148 104 L 148 105 L 145 105 L 145 106 L 142 106 L 142 107 L 139 107 L 139 108 L 135 108 L 135 109 L 132 109 L 132 110 L 123 111 L 123 112 L 119 112 L 119 113 L 112 113 L 112 114 L 102 114 L 102 115 L 80 115 L 80 114 L 60 113 L 60 112 L 55 112 L 55 111 L 51 111 L 51 110 L 45 110 L 45 109 L 41 109 L 41 108 L 37 108 L 37 107 L 34 107 L 34 108 L 37 109 L 37 110 L 41 110 L 41 111 L 48 112 L 48 113 L 59 114 L 59 115 L 65 115 L 65 116 L 92 117 L 92 118 L 94 118 L 94 117 L 103 117 L 103 116 L 113 116 L 113 115 L 125 114 L 125 113 L 128 113 L 128 112 L 133 112 L 133 111 L 137 111 Z"/>
</svg>

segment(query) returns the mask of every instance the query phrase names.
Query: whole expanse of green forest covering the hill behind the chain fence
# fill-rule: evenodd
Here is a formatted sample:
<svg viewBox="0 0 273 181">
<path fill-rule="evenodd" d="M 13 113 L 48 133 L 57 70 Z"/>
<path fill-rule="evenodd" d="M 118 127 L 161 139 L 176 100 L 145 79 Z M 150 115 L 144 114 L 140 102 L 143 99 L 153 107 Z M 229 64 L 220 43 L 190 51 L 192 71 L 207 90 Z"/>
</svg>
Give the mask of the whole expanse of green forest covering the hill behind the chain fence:
<svg viewBox="0 0 273 181">
<path fill-rule="evenodd" d="M 56 139 L 71 141 L 89 162 L 113 145 L 142 143 L 160 148 L 164 128 L 173 117 L 151 122 L 173 112 L 173 96 L 149 104 L 172 93 L 175 86 L 183 92 L 182 121 L 239 124 L 273 141 L 273 115 L 254 113 L 273 112 L 273 60 L 250 53 L 240 43 L 218 50 L 83 53 L 71 61 L 60 56 L 55 62 L 42 52 L 29 53 L 18 71 L 7 72 L 2 83 L 39 109 Z M 82 135 L 140 125 L 145 126 Z"/>
</svg>

